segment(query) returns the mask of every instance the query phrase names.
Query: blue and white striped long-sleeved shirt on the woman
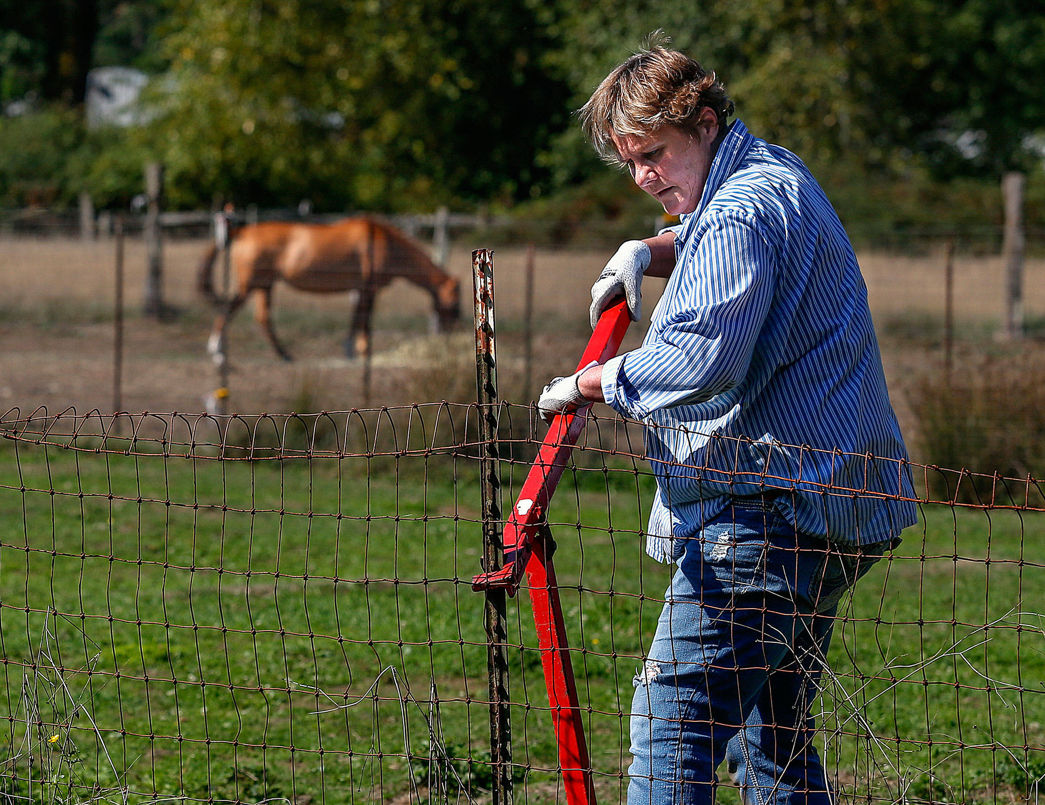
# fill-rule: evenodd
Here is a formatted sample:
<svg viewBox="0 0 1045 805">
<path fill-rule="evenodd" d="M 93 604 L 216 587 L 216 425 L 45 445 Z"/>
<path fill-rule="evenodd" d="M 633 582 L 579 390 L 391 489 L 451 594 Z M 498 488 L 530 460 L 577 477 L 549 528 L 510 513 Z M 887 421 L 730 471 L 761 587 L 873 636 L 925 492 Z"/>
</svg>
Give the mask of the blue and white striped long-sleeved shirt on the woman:
<svg viewBox="0 0 1045 805">
<path fill-rule="evenodd" d="M 602 374 L 609 405 L 647 425 L 650 555 L 677 557 L 730 496 L 766 490 L 832 542 L 914 523 L 867 289 L 802 161 L 735 121 L 675 253 L 643 346 Z"/>
</svg>

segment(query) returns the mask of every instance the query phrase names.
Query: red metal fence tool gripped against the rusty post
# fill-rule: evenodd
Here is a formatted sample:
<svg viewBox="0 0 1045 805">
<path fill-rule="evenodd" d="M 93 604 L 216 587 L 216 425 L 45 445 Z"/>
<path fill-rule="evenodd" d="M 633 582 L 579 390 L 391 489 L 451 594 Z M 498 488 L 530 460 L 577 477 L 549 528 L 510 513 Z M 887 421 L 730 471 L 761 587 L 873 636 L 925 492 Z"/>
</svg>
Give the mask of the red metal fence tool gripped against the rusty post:
<svg viewBox="0 0 1045 805">
<path fill-rule="evenodd" d="M 577 369 L 593 361 L 603 363 L 617 354 L 630 319 L 624 300 L 603 312 L 591 334 Z M 515 595 L 526 573 L 537 626 L 548 699 L 552 708 L 555 737 L 559 747 L 559 765 L 570 805 L 594 805 L 591 762 L 584 740 L 584 725 L 577 697 L 562 603 L 555 579 L 552 553 L 555 542 L 548 525 L 548 510 L 555 488 L 562 477 L 570 453 L 587 421 L 591 406 L 564 413 L 552 421 L 552 426 L 530 468 L 522 490 L 505 523 L 505 564 L 500 570 L 482 573 L 472 579 L 475 591 L 504 588 Z"/>
</svg>

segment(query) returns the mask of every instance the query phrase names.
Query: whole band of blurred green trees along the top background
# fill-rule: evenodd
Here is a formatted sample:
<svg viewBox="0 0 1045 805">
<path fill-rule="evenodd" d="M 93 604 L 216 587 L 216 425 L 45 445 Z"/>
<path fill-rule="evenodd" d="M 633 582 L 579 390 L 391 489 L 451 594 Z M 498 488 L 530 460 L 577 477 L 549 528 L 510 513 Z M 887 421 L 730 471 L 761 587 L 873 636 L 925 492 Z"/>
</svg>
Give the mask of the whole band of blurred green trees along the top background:
<svg viewBox="0 0 1045 805">
<path fill-rule="evenodd" d="M 68 100 L 72 79 L 55 71 L 73 69 L 71 45 L 48 39 L 37 0 L 0 2 L 0 102 Z M 60 5 L 61 27 L 73 11 Z M 141 163 L 161 159 L 173 207 L 530 202 L 525 215 L 560 221 L 556 241 L 593 220 L 644 233 L 655 208 L 599 162 L 570 112 L 663 28 L 717 71 L 752 132 L 816 168 L 864 230 L 857 240 L 920 221 L 968 230 L 983 210 L 1000 217 L 1000 172 L 1040 162 L 1045 18 L 1032 11 L 1025 0 L 99 0 L 94 64 L 154 73 L 152 123 L 88 134 L 49 109 L 0 121 L 0 203 L 68 205 L 88 189 L 123 206 Z"/>
</svg>

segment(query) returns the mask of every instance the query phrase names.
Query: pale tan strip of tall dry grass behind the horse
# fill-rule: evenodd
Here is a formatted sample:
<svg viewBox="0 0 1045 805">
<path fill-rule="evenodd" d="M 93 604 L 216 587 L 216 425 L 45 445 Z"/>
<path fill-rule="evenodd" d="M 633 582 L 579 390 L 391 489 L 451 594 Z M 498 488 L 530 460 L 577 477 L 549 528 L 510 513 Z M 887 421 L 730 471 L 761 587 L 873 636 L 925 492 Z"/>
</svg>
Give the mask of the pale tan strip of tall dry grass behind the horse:
<svg viewBox="0 0 1045 805">
<path fill-rule="evenodd" d="M 202 309 L 195 292 L 195 268 L 207 243 L 204 240 L 168 240 L 165 244 L 164 288 L 175 305 Z M 498 313 L 504 321 L 518 318 L 522 311 L 526 251 L 516 246 L 496 248 Z M 601 269 L 604 251 L 539 250 L 536 259 L 536 311 L 538 315 L 572 317 L 586 305 L 591 279 Z M 860 265 L 867 283 L 872 310 L 880 323 L 891 318 L 930 316 L 942 318 L 944 310 L 944 259 L 865 254 Z M 138 238 L 126 241 L 126 302 L 141 304 L 145 252 Z M 470 287 L 469 253 L 455 248 L 450 270 Z M 1003 309 L 1004 266 L 1000 257 L 962 257 L 955 260 L 955 314 L 959 325 L 998 321 Z M 647 280 L 644 306 L 647 312 L 664 287 L 663 281 Z M 342 295 L 320 297 L 277 290 L 282 310 L 339 314 L 347 311 Z M 113 242 L 73 239 L 0 239 L 0 305 L 29 309 L 47 305 L 71 305 L 103 314 L 113 295 Z M 377 303 L 377 316 L 420 315 L 427 298 L 405 282 L 394 284 Z M 1028 260 L 1024 279 L 1024 305 L 1030 318 L 1045 316 L 1045 260 Z M 347 312 L 346 312 L 347 316 Z"/>
</svg>

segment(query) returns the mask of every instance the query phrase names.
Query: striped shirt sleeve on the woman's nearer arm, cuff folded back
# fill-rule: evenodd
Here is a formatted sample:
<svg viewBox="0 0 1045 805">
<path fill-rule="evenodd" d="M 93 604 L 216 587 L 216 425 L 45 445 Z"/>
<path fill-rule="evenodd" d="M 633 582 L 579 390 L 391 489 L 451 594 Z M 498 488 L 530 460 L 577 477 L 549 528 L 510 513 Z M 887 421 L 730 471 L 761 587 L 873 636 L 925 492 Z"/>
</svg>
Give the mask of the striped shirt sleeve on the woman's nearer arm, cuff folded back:
<svg viewBox="0 0 1045 805">
<path fill-rule="evenodd" d="M 653 337 L 603 366 L 606 402 L 640 419 L 737 385 L 769 310 L 775 273 L 773 251 L 753 220 L 720 214 L 699 241 L 683 245 Z"/>
</svg>

